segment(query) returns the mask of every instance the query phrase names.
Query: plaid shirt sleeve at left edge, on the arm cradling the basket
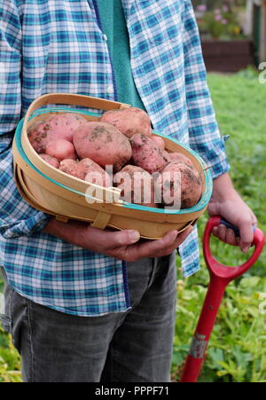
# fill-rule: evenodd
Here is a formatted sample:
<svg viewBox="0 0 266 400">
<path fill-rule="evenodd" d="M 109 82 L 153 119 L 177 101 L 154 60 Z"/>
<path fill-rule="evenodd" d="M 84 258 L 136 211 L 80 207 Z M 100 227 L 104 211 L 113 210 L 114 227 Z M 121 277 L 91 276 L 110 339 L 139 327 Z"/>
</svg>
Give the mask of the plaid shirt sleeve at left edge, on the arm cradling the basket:
<svg viewBox="0 0 266 400">
<path fill-rule="evenodd" d="M 14 238 L 42 230 L 49 216 L 31 208 L 16 188 L 12 131 L 20 121 L 21 28 L 12 0 L 0 4 L 0 234 Z"/>
</svg>

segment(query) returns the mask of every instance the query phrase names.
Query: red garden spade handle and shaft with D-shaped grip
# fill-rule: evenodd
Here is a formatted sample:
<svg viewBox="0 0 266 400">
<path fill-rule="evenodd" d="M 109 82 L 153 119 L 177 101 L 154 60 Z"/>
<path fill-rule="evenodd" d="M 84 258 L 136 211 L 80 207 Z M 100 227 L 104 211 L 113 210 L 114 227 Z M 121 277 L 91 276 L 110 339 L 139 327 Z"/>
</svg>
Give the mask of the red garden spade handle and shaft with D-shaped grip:
<svg viewBox="0 0 266 400">
<path fill-rule="evenodd" d="M 223 300 L 225 288 L 233 279 L 239 278 L 254 265 L 261 255 L 265 243 L 263 232 L 260 229 L 255 229 L 253 240 L 254 253 L 246 263 L 238 267 L 229 267 L 218 263 L 210 250 L 210 236 L 213 228 L 219 224 L 225 224 L 228 228 L 233 229 L 239 236 L 238 228 L 224 221 L 220 216 L 213 216 L 207 222 L 203 236 L 203 253 L 210 275 L 210 282 L 205 302 L 200 313 L 200 319 L 192 339 L 191 349 L 185 361 L 181 382 L 197 381 L 206 354 L 207 343 L 213 331 L 217 312 Z"/>
</svg>

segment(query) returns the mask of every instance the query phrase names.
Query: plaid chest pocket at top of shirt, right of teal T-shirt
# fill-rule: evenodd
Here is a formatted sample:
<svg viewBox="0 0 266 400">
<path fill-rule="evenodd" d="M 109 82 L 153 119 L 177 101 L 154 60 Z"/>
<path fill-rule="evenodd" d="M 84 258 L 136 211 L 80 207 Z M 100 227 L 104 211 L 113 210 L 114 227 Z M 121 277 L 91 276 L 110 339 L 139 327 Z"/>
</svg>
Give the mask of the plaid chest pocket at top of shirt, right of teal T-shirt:
<svg viewBox="0 0 266 400">
<path fill-rule="evenodd" d="M 179 40 L 181 7 L 176 0 L 138 0 L 133 2 L 132 9 L 131 12 L 136 13 L 139 33 L 150 43 Z"/>
</svg>

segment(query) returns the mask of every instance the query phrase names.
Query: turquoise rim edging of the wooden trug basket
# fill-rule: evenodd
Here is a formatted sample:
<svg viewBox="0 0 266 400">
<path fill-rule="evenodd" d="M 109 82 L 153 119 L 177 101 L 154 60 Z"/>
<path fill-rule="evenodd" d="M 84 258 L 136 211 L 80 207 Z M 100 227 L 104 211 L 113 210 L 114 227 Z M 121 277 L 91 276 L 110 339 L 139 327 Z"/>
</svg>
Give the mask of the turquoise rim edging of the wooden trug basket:
<svg viewBox="0 0 266 400">
<path fill-rule="evenodd" d="M 29 121 L 41 114 L 48 114 L 48 113 L 52 113 L 52 112 L 56 113 L 56 112 L 61 112 L 61 111 L 66 112 L 66 113 L 72 113 L 72 114 L 77 113 L 77 114 L 84 114 L 84 115 L 91 115 L 91 116 L 99 116 L 100 115 L 100 113 L 93 113 L 91 111 L 89 112 L 85 108 L 81 109 L 81 108 L 69 108 L 69 107 L 64 107 L 64 106 L 52 106 L 52 107 L 45 107 L 45 108 L 42 107 L 42 108 L 35 110 L 35 112 L 29 118 Z M 20 156 L 23 158 L 24 161 L 27 162 L 27 165 L 30 168 L 35 169 L 35 172 L 37 172 L 38 174 L 43 176 L 45 179 L 48 179 L 53 184 L 57 184 L 57 185 L 65 188 L 66 190 L 69 190 L 71 192 L 79 194 L 83 197 L 88 196 L 83 192 L 79 192 L 69 186 L 66 186 L 65 184 L 61 184 L 61 183 L 55 181 L 54 179 L 52 179 L 50 176 L 43 174 L 43 172 L 40 169 L 37 169 L 35 167 L 35 165 L 27 158 L 27 154 L 25 153 L 25 151 L 21 145 L 22 126 L 24 123 L 24 119 L 25 118 L 22 118 L 17 126 L 15 136 L 14 136 L 14 141 L 15 141 L 15 145 L 18 149 L 18 152 L 20 153 Z M 172 142 L 176 143 L 176 145 L 183 147 L 186 151 L 191 153 L 196 158 L 197 161 L 200 162 L 202 169 L 207 167 L 206 162 L 203 161 L 203 159 L 200 157 L 200 155 L 198 153 L 195 153 L 189 146 L 184 145 L 183 143 L 179 142 L 178 140 L 176 140 L 173 137 L 168 137 L 166 135 L 163 135 L 162 133 L 160 133 L 156 130 L 153 130 L 153 133 L 160 137 L 165 137 L 168 140 L 171 140 Z M 36 153 L 36 155 L 38 155 L 38 154 Z M 155 214 L 168 214 L 168 215 L 185 215 L 185 214 L 191 214 L 194 212 L 199 212 L 203 208 L 207 207 L 207 203 L 211 198 L 212 190 L 213 190 L 213 179 L 212 179 L 209 169 L 204 170 L 204 176 L 205 176 L 205 181 L 206 181 L 205 191 L 202 194 L 200 201 L 192 208 L 181 208 L 178 210 L 170 209 L 170 208 L 151 208 L 151 207 L 146 207 L 146 206 L 129 203 L 129 202 L 126 202 L 123 200 L 121 200 L 121 202 L 118 204 L 118 206 L 123 207 L 123 208 L 135 209 L 135 210 L 139 210 L 139 211 L 146 211 L 146 212 L 148 211 L 148 212 L 152 212 Z M 88 196 L 88 197 L 90 197 L 90 196 Z"/>
</svg>

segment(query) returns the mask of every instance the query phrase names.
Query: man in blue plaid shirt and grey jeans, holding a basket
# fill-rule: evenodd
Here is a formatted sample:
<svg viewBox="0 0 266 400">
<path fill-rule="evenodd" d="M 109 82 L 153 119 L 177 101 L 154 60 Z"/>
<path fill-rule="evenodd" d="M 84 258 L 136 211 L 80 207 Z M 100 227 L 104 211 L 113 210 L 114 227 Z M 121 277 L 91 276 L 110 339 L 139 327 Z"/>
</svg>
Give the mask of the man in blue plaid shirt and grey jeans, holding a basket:
<svg viewBox="0 0 266 400">
<path fill-rule="evenodd" d="M 209 213 L 239 226 L 247 251 L 256 221 L 228 175 L 191 1 L 7 0 L 0 11 L 3 321 L 22 356 L 23 379 L 168 381 L 174 250 L 185 277 L 198 271 L 196 229 L 142 241 L 137 231 L 59 223 L 20 198 L 11 143 L 43 93 L 142 107 L 154 129 L 191 145 L 212 166 Z M 223 226 L 214 234 L 238 244 Z"/>
</svg>

